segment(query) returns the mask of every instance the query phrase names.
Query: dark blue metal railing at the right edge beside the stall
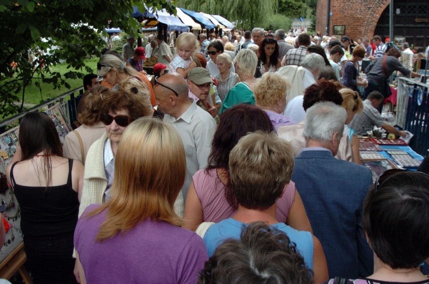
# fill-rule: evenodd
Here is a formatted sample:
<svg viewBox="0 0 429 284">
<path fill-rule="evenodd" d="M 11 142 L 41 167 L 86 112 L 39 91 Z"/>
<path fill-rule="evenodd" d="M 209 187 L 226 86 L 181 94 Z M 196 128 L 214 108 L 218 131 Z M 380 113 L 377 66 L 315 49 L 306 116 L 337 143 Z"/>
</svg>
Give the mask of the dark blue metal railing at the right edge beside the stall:
<svg viewBox="0 0 429 284">
<path fill-rule="evenodd" d="M 414 134 L 409 146 L 426 156 L 429 149 L 429 84 L 398 78 L 396 124 Z"/>
</svg>

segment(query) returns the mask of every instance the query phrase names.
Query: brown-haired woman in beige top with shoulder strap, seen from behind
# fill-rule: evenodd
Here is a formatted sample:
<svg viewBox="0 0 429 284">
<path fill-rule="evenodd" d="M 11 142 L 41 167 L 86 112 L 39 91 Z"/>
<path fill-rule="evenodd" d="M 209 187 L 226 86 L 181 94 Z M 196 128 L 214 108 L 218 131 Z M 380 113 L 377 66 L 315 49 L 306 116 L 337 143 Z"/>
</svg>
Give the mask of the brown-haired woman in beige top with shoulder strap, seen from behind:
<svg viewBox="0 0 429 284">
<path fill-rule="evenodd" d="M 104 124 L 100 121 L 100 110 L 103 93 L 109 90 L 106 86 L 96 86 L 85 92 L 84 110 L 78 114 L 78 121 L 82 125 L 65 136 L 64 157 L 78 160 L 85 165 L 92 143 L 105 132 Z"/>
</svg>

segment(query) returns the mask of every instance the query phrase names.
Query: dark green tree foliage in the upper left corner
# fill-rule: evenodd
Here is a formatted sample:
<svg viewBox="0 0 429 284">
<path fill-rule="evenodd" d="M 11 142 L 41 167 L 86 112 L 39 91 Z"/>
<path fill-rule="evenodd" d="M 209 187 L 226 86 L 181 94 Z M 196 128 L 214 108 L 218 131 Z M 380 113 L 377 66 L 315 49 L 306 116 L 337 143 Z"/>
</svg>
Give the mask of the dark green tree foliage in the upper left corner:
<svg viewBox="0 0 429 284">
<path fill-rule="evenodd" d="M 171 2 L 145 1 L 147 7 L 173 11 Z M 133 6 L 144 11 L 144 2 L 127 0 L 2 0 L 0 1 L 0 114 L 9 115 L 22 110 L 25 88 L 39 80 L 50 82 L 54 88 L 69 87 L 67 78 L 82 78 L 83 72 L 93 72 L 84 59 L 98 56 L 105 45 L 101 34 L 109 26 L 120 27 L 136 34 L 140 24 L 131 17 Z M 50 54 L 52 46 L 58 49 Z M 42 52 L 43 51 L 43 52 Z M 40 55 L 45 53 L 44 55 Z M 30 54 L 38 57 L 32 63 Z M 61 76 L 49 66 L 65 60 L 70 72 Z M 42 91 L 42 90 L 41 90 Z"/>
</svg>

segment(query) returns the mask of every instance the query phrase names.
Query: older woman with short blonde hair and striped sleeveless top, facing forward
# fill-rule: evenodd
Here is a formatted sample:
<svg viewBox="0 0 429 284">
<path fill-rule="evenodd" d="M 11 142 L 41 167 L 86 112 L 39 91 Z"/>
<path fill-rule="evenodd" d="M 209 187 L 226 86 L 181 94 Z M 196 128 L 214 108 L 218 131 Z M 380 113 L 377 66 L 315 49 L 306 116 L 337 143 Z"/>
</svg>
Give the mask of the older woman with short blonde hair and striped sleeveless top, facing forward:
<svg viewBox="0 0 429 284">
<path fill-rule="evenodd" d="M 232 59 L 226 53 L 218 55 L 217 61 L 219 73 L 215 76 L 215 80 L 218 83 L 218 94 L 223 102 L 228 92 L 232 87 L 240 81 L 237 73 L 231 72 Z"/>
</svg>

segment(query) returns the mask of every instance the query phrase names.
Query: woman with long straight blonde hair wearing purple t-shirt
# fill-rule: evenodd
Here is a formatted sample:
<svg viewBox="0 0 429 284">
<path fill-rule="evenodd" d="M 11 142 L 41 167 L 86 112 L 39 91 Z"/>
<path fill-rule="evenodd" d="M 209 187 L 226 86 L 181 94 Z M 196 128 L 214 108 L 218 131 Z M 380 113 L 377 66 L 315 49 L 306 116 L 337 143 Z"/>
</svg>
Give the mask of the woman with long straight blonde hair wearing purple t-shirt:
<svg viewBox="0 0 429 284">
<path fill-rule="evenodd" d="M 186 174 L 179 134 L 138 119 L 123 133 L 115 163 L 111 199 L 89 206 L 76 227 L 81 281 L 195 283 L 208 257 L 173 210 Z"/>
</svg>

